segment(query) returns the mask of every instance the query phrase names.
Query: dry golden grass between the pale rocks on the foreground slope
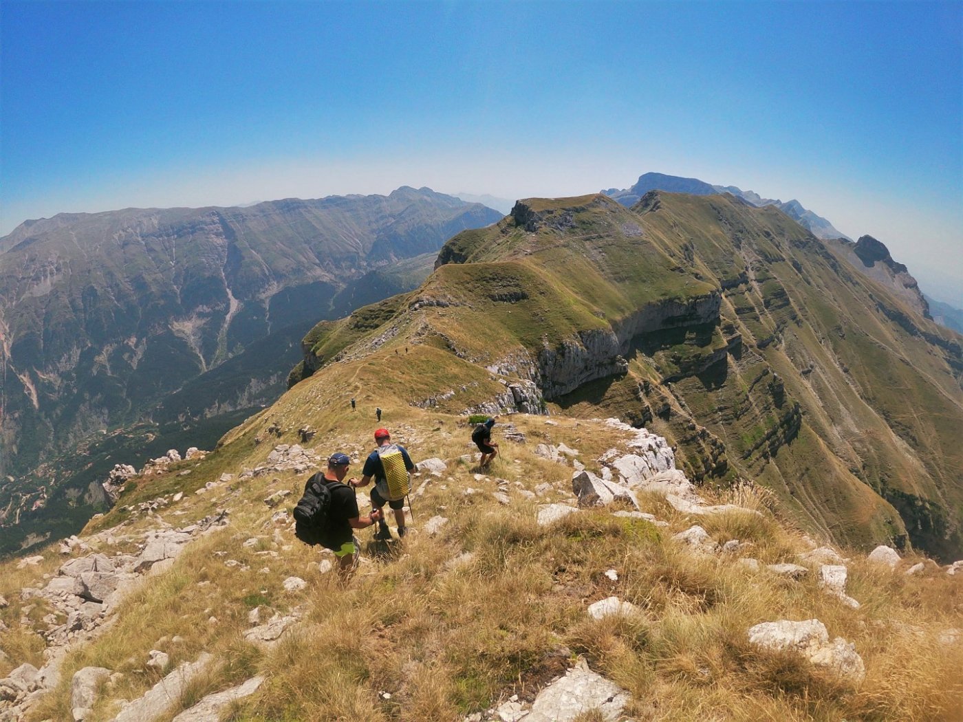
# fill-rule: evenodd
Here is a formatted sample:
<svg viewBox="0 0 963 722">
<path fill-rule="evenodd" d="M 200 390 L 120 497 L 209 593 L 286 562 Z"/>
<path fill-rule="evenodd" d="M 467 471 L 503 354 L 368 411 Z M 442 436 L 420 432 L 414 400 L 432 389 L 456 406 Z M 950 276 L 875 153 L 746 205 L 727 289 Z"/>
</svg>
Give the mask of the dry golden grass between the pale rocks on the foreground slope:
<svg viewBox="0 0 963 722">
<path fill-rule="evenodd" d="M 285 398 L 291 413 L 305 403 L 324 403 L 307 388 L 306 395 Z M 456 722 L 512 694 L 531 701 L 578 656 L 631 693 L 626 713 L 638 720 L 952 720 L 963 714 L 963 645 L 938 641 L 940 632 L 963 627 L 961 580 L 933 571 L 907 578 L 855 560 L 847 591 L 863 606 L 850 609 L 820 590 L 815 572 L 793 581 L 765 568 L 746 569 L 738 556 L 766 564 L 795 560 L 808 548 L 797 530 L 773 517 L 765 493 L 749 488 L 718 492 L 712 501 L 741 503 L 762 516 L 688 517 L 643 494 L 643 508 L 668 528 L 606 510 L 582 510 L 540 527 L 537 505 L 571 496 L 571 469 L 535 456 L 534 444 L 562 441 L 580 449 L 592 469 L 592 459 L 616 445 L 612 429 L 584 420 L 560 418 L 560 425 L 550 426 L 542 418 L 517 417 L 512 421 L 529 443 L 503 442 L 492 469 L 477 479 L 474 462 L 456 461 L 472 452 L 468 426 L 440 413 L 387 402 L 382 408 L 384 423 L 416 461 L 439 456 L 449 463 L 440 478 L 415 479 L 415 488 L 426 485 L 414 500 L 414 531 L 403 545 L 386 551 L 362 530 L 364 562 L 345 586 L 319 573 L 322 555 L 300 545 L 289 529 L 275 528 L 274 509 L 261 501 L 287 488 L 294 492 L 290 507 L 303 476 L 255 477 L 188 495 L 161 515 L 179 526 L 229 506 L 229 526 L 193 542 L 169 571 L 132 593 L 113 627 L 68 655 L 62 683 L 29 719 L 69 719 L 70 676 L 87 665 L 123 674 L 105 687 L 91 716 L 91 722 L 111 719 L 117 700 L 143 694 L 162 677 L 143 665 L 155 648 L 170 655 L 171 666 L 202 651 L 218 660 L 162 722 L 204 694 L 258 672 L 266 683 L 236 703 L 230 719 Z M 403 423 L 387 421 L 394 414 Z M 322 457 L 348 450 L 363 458 L 373 446 L 373 418 L 352 416 L 350 407 L 332 417 L 332 428 L 309 447 Z M 232 451 L 235 467 L 210 463 L 205 473 L 236 474 L 265 458 L 273 444 L 293 443 L 282 437 L 255 445 L 258 425 L 270 423 L 256 420 L 238 436 L 247 451 Z M 359 476 L 360 469 L 351 474 Z M 491 495 L 499 477 L 510 482 L 508 506 Z M 204 480 L 186 478 L 200 485 Z M 530 490 L 548 482 L 552 491 L 529 501 L 517 493 L 516 481 Z M 159 477 L 156 483 L 168 481 Z M 469 487 L 476 493 L 466 495 Z M 150 499 L 150 482 L 138 494 Z M 174 517 L 174 510 L 186 513 Z M 435 514 L 449 518 L 448 525 L 434 537 L 419 533 Z M 118 531 L 134 534 L 155 524 L 142 516 Z M 719 543 L 740 539 L 751 546 L 739 554 L 692 554 L 670 537 L 693 524 Z M 250 538 L 256 542 L 245 547 Z M 228 567 L 231 559 L 239 564 Z M 11 590 L 4 619 L 13 613 L 18 619 L 22 608 L 16 585 L 53 573 L 60 563 L 50 555 L 39 570 L 0 575 L 0 589 Z M 609 569 L 617 581 L 606 576 Z M 307 588 L 284 592 L 280 582 L 289 576 L 307 580 Z M 635 604 L 638 614 L 589 619 L 586 607 L 609 596 Z M 301 620 L 276 647 L 262 651 L 242 636 L 254 606 L 267 610 L 262 618 L 300 607 Z M 856 645 L 866 662 L 865 682 L 843 683 L 799 658 L 748 644 L 746 631 L 754 624 L 810 618 Z M 173 643 L 175 635 L 183 642 Z M 12 631 L 0 643 L 13 658 L 40 661 L 38 640 Z M 581 719 L 597 718 L 586 712 Z"/>
</svg>

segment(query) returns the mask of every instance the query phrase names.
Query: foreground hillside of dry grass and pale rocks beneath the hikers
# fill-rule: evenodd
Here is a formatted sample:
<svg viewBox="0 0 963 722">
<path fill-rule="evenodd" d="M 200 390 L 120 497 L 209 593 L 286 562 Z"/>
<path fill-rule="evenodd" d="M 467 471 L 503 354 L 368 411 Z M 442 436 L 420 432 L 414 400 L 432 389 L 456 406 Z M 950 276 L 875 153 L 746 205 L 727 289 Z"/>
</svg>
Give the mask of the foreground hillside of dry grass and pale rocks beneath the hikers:
<svg viewBox="0 0 963 722">
<path fill-rule="evenodd" d="M 0 720 L 959 711 L 963 566 L 845 558 L 759 489 L 703 499 L 663 438 L 614 419 L 515 415 L 486 476 L 462 419 L 385 394 L 419 461 L 417 516 L 403 545 L 362 531 L 340 585 L 289 509 L 321 459 L 368 451 L 367 400 L 352 413 L 326 386 L 341 371 L 217 451 L 130 477 L 79 537 L 3 563 Z"/>
</svg>

